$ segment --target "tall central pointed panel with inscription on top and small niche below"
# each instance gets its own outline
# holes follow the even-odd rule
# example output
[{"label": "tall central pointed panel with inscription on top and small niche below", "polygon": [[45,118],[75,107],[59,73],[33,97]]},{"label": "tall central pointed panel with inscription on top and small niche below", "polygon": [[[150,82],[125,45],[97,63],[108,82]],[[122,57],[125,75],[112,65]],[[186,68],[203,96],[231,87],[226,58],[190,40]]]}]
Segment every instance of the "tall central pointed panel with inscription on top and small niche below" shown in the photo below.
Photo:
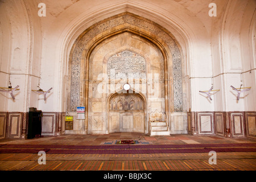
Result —
[{"label": "tall central pointed panel with inscription on top and small niche below", "polygon": [[[131,47],[137,47],[143,40],[134,41],[131,34],[121,35],[121,40],[125,40]],[[117,40],[117,39],[115,39]],[[145,43],[144,43],[145,44]],[[150,48],[148,48],[150,51]],[[152,51],[153,52],[153,51]],[[160,57],[160,56],[159,56]],[[150,56],[148,56],[149,60]],[[162,59],[163,60],[163,59]],[[159,61],[160,62],[160,59]],[[149,63],[150,64],[150,63]],[[110,56],[107,61],[107,80],[110,81],[109,88],[114,86],[114,93],[107,98],[108,104],[108,131],[114,132],[138,132],[147,133],[146,125],[146,99],[147,93],[142,88],[146,88],[146,59],[137,52],[125,49]],[[150,69],[150,67],[149,67]],[[160,71],[160,70],[159,70]],[[119,89],[118,84],[129,83],[131,89]],[[112,85],[111,85],[112,84]],[[135,90],[137,88],[137,90]],[[119,89],[119,90],[118,90]],[[161,109],[161,108],[160,108]],[[145,130],[146,129],[146,130]]]}]

